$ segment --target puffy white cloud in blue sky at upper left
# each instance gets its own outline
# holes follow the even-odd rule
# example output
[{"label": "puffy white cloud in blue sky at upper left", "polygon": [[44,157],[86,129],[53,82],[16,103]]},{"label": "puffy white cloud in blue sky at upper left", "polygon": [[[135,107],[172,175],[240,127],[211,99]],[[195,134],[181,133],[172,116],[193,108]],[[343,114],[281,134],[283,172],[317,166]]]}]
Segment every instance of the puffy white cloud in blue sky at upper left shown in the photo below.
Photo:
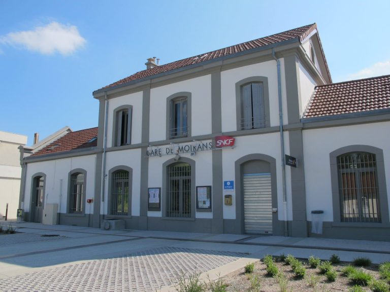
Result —
[{"label": "puffy white cloud in blue sky at upper left", "polygon": [[46,26],[35,27],[34,30],[10,32],[0,36],[0,43],[11,46],[22,46],[29,51],[50,55],[58,52],[62,55],[73,54],[86,44],[74,25],[51,22]]}]

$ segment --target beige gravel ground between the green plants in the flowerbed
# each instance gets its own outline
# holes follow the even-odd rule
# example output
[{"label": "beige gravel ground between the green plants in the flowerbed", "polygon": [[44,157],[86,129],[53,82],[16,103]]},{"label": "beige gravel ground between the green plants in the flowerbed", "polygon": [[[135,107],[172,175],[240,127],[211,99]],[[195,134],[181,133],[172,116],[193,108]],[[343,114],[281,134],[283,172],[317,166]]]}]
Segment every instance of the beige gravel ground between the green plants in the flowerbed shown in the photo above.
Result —
[{"label": "beige gravel ground between the green plants in the flowerbed", "polygon": [[[341,276],[341,269],[348,265],[343,263],[340,265],[334,265],[337,271],[337,279],[335,282],[329,282],[324,275],[319,274],[318,269],[312,269],[308,264],[305,265],[306,276],[304,279],[296,279],[294,272],[290,266],[283,263],[275,263],[279,271],[283,271],[288,279],[287,292],[299,291],[299,292],[332,292],[332,291],[345,291],[353,286],[347,277]],[[358,268],[360,269],[360,268]],[[374,275],[375,279],[379,279],[377,267],[362,268],[365,272]],[[250,275],[257,276],[259,285],[253,285],[257,287],[251,288]],[[253,276],[252,276],[253,277]],[[310,285],[310,280],[312,285]],[[280,287],[278,280],[267,276],[266,265],[261,261],[255,263],[253,274],[245,274],[244,269],[237,270],[222,278],[222,281],[228,284],[227,291],[256,291],[256,292],[279,292]],[[314,283],[314,285],[313,285]],[[365,291],[371,291],[368,287],[363,287]]]}]

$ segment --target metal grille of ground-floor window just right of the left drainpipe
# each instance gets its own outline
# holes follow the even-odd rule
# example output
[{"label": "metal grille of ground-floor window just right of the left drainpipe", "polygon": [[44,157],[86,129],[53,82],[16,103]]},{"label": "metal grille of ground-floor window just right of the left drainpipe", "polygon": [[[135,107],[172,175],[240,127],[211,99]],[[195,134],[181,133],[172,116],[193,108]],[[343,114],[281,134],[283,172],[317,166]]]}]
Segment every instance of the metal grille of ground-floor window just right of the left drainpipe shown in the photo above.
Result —
[{"label": "metal grille of ground-floor window just right of the left drainpipe", "polygon": [[119,170],[112,177],[111,214],[128,215],[128,171]]}]

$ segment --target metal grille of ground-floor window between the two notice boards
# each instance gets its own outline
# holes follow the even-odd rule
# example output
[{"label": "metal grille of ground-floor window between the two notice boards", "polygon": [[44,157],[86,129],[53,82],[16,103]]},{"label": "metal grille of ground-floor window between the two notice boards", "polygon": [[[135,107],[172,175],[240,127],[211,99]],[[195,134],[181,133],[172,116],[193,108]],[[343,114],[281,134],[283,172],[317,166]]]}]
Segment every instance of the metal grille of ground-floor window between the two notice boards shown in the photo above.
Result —
[{"label": "metal grille of ground-floor window between the two notice boards", "polygon": [[167,217],[191,217],[191,166],[168,167]]}]

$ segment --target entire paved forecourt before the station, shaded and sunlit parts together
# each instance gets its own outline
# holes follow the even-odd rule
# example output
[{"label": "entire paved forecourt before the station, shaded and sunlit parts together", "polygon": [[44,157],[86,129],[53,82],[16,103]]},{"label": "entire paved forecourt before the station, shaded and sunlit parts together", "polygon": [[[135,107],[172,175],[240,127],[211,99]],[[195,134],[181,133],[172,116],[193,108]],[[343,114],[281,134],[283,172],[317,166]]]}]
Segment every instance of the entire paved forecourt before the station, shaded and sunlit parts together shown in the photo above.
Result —
[{"label": "entire paved forecourt before the station, shaded and sunlit parts together", "polygon": [[12,224],[19,233],[0,235],[7,292],[171,291],[183,273],[215,279],[265,254],[390,261],[390,242]]}]

